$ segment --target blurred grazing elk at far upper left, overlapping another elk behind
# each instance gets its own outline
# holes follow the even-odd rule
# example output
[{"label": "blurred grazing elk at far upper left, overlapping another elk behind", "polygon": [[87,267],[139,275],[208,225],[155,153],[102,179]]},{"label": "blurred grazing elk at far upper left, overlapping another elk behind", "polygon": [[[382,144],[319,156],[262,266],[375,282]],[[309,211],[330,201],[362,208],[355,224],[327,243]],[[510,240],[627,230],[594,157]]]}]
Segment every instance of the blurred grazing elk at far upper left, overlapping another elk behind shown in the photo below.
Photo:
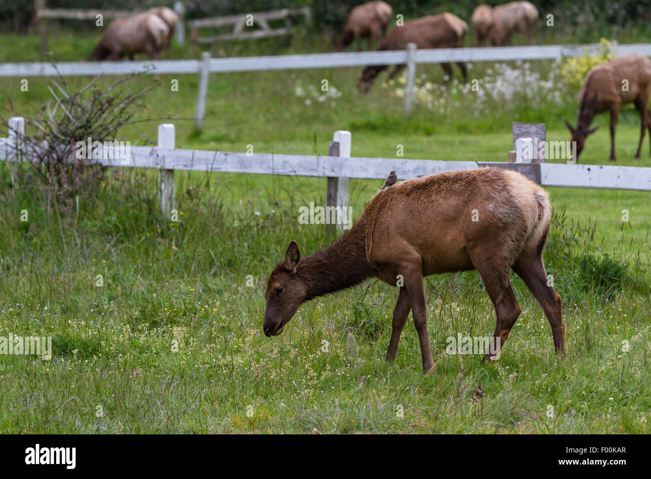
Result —
[{"label": "blurred grazing elk at far upper left, overlapping another elk behind", "polygon": [[117,18],[106,27],[100,42],[90,54],[91,61],[133,60],[136,53],[158,59],[169,36],[169,27],[158,15],[143,12],[128,18]]}]

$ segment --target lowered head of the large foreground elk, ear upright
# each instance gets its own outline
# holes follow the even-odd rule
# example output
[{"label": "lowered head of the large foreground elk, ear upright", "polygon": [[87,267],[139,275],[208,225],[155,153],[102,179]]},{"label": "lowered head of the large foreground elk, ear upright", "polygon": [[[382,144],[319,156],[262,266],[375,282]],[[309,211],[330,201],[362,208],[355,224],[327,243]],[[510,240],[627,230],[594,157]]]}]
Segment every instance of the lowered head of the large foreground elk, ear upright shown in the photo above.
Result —
[{"label": "lowered head of the large foreground elk, ear upright", "polygon": [[298,278],[296,268],[301,261],[296,241],[290,242],[285,260],[278,263],[271,272],[264,297],[267,308],[264,312],[262,330],[265,336],[277,336],[284,325],[294,316],[307,298],[305,284]]}]

